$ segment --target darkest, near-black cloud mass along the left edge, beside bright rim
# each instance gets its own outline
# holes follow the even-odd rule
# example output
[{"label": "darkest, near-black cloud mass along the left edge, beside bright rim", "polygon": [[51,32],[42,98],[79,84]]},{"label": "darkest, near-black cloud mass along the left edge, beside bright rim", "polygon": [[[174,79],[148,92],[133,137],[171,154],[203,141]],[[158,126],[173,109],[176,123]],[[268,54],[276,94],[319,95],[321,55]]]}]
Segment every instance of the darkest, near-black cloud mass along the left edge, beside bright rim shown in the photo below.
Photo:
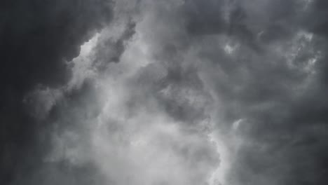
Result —
[{"label": "darkest, near-black cloud mass along the left edge, beside bright rim", "polygon": [[1,184],[18,170],[32,170],[43,155],[35,139],[43,126],[27,114],[23,97],[39,83],[67,81],[65,62],[111,20],[111,6],[111,1],[1,1]]}]

